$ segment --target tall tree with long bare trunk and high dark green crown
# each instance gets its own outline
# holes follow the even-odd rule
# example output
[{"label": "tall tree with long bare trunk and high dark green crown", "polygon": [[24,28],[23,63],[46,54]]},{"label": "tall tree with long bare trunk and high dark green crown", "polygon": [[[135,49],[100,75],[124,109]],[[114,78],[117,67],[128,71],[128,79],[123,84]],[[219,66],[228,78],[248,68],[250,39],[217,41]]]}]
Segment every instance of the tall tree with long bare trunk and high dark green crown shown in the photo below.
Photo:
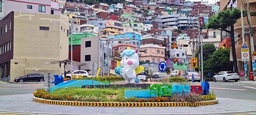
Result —
[{"label": "tall tree with long bare trunk and high dark green crown", "polygon": [[[225,32],[230,34],[231,37],[231,46],[232,46],[232,57],[235,72],[238,73],[238,61],[236,59],[235,52],[235,38],[234,38],[234,24],[240,18],[240,10],[232,9],[232,10],[224,10],[220,11],[217,14],[214,14],[212,17],[208,19],[208,24],[206,24],[207,29],[218,29],[224,30]],[[230,30],[228,30],[230,27]]]}]

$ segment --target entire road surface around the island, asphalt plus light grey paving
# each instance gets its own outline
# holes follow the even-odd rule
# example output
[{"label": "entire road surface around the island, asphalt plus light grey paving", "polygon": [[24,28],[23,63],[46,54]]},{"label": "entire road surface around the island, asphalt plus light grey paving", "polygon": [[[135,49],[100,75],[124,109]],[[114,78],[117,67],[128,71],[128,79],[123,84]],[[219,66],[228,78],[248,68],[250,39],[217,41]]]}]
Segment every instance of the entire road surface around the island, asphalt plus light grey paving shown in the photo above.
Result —
[{"label": "entire road surface around the island, asphalt plus light grey paving", "polygon": [[32,101],[32,93],[46,88],[42,83],[0,82],[0,114],[256,114],[256,82],[209,83],[217,105],[113,108],[40,104]]}]

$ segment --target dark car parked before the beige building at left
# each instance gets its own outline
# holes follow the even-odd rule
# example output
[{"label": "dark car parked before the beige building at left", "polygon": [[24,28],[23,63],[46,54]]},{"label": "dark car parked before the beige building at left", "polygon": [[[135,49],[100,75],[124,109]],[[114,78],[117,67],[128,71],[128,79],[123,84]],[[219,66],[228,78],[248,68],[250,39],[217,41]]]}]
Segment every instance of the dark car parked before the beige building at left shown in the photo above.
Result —
[{"label": "dark car parked before the beige building at left", "polygon": [[24,76],[18,76],[14,79],[14,82],[44,82],[43,74],[30,73]]}]

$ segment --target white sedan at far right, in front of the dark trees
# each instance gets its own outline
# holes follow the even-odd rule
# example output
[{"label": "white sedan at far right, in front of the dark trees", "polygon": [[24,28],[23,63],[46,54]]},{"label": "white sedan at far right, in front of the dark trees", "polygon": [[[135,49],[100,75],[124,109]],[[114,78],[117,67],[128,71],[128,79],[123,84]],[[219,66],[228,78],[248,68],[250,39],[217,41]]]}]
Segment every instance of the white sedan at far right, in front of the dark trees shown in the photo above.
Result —
[{"label": "white sedan at far right, in front of the dark trees", "polygon": [[235,71],[220,71],[220,72],[218,72],[218,74],[213,76],[213,81],[214,82],[217,82],[217,81],[223,81],[223,82],[235,81],[235,82],[238,82],[239,80],[240,80],[239,75]]}]

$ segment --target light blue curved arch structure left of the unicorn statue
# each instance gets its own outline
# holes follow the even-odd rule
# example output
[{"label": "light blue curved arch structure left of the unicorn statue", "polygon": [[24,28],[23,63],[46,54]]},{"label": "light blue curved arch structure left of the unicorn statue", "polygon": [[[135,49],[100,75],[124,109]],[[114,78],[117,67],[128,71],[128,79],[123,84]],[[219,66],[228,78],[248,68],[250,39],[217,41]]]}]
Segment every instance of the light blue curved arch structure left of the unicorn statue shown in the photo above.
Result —
[{"label": "light blue curved arch structure left of the unicorn statue", "polygon": [[[92,85],[92,79],[84,79],[79,81],[66,81],[61,82],[58,85],[50,88],[50,92],[57,90],[57,89],[65,89],[66,87],[82,87],[83,85]],[[93,85],[108,85],[103,82],[93,81]]]}]

